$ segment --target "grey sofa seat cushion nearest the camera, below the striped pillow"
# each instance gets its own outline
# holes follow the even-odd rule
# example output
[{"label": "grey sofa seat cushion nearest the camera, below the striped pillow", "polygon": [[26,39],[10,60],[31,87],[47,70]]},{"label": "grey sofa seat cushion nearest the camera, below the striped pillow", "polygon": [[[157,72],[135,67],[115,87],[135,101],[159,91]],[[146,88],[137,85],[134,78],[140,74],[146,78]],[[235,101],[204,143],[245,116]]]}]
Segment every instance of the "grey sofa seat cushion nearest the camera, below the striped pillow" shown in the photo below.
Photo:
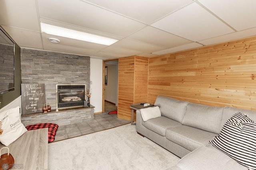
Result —
[{"label": "grey sofa seat cushion nearest the camera, below the striped pillow", "polygon": [[[182,170],[248,170],[218,149],[202,146],[177,163]],[[177,168],[168,168],[176,170]]]}]

